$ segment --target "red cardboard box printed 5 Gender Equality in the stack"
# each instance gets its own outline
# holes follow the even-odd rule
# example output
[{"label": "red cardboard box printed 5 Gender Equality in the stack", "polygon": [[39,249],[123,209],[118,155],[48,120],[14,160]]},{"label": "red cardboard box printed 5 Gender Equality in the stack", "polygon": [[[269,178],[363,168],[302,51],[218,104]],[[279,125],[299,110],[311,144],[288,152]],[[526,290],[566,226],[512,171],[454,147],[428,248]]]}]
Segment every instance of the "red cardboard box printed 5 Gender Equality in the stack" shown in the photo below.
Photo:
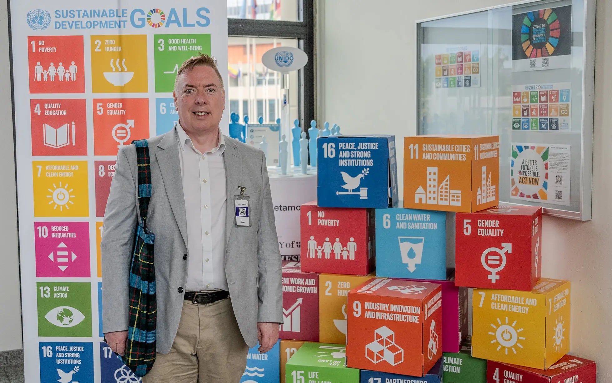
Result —
[{"label": "red cardboard box printed 5 Gender Equality in the stack", "polygon": [[496,206],[457,213],[455,284],[531,291],[542,273],[542,208]]}]

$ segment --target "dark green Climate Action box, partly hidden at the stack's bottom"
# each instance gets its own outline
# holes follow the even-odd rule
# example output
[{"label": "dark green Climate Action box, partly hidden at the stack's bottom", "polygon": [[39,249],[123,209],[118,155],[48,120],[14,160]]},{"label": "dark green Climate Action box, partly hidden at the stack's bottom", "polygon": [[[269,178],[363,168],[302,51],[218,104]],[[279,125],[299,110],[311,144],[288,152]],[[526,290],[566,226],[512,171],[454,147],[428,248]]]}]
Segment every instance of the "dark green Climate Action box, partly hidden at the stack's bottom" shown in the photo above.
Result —
[{"label": "dark green Climate Action box, partly hidden at the stack's bottom", "polygon": [[487,383],[487,360],[471,356],[471,340],[468,338],[459,352],[442,353],[442,382]]}]

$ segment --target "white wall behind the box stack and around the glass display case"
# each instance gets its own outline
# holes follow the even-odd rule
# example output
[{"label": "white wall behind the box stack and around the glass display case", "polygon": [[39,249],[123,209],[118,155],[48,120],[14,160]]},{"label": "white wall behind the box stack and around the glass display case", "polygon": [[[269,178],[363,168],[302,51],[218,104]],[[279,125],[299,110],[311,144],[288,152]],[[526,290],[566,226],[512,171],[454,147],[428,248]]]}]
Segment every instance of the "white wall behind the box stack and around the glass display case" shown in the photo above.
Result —
[{"label": "white wall behind the box stack and around the glass display case", "polygon": [[[416,134],[416,20],[504,0],[318,0],[318,121],[344,134]],[[572,281],[572,354],[612,382],[612,0],[597,1],[592,221],[543,219],[543,276]],[[398,178],[403,174],[398,161]]]}]

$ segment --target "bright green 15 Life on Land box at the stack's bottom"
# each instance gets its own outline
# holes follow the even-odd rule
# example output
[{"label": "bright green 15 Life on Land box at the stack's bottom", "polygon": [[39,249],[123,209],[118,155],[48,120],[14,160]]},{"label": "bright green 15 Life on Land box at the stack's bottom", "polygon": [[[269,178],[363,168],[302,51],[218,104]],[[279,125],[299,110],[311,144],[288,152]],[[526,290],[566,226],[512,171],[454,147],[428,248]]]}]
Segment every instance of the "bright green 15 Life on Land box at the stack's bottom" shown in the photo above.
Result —
[{"label": "bright green 15 Life on Land box at the stack's bottom", "polygon": [[359,370],[346,367],[345,346],[307,342],[285,365],[285,382],[359,383]]}]

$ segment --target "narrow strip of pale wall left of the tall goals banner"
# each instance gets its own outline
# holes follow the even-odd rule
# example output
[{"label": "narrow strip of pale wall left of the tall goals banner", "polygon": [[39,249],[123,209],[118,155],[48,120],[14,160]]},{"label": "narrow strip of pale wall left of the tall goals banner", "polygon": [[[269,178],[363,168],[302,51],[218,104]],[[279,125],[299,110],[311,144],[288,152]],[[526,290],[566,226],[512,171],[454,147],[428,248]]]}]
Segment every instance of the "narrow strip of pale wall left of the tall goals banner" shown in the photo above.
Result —
[{"label": "narrow strip of pale wall left of the tall goals banner", "polygon": [[7,2],[0,1],[0,351],[22,347],[8,17]]}]

